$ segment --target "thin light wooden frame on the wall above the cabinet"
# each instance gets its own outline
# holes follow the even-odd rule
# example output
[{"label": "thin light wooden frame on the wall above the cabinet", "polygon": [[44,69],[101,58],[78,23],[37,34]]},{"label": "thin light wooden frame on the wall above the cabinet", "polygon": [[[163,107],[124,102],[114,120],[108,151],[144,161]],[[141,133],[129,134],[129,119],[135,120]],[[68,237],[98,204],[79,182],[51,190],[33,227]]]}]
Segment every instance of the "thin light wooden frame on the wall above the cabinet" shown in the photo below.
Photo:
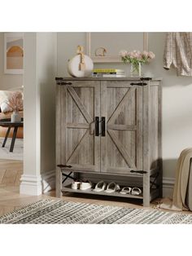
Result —
[{"label": "thin light wooden frame on the wall above the cabinet", "polygon": [[119,53],[148,51],[148,33],[141,32],[93,32],[86,33],[86,53],[94,63],[122,62]]}]

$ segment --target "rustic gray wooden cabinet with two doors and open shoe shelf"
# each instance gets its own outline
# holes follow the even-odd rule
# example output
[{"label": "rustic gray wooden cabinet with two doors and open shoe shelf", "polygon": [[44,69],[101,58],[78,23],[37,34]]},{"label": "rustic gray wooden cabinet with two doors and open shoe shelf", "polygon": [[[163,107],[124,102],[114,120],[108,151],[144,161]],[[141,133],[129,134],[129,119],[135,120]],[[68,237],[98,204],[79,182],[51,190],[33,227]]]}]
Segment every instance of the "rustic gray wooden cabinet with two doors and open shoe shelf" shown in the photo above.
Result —
[{"label": "rustic gray wooden cabinet with two doors and open shoe shelf", "polygon": [[[161,196],[160,79],[56,77],[56,82],[56,196],[133,197],[145,206]],[[93,183],[116,181],[142,194],[72,190],[62,173]]]}]

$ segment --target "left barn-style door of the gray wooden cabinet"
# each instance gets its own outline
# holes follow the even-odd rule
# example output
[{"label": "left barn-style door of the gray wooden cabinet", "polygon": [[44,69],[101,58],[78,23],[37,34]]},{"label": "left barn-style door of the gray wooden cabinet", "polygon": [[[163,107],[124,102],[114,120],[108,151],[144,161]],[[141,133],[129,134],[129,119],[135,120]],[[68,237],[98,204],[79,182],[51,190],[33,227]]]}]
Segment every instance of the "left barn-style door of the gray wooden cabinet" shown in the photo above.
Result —
[{"label": "left barn-style door of the gray wooden cabinet", "polygon": [[[71,84],[70,84],[71,83]],[[72,81],[61,90],[61,159],[68,170],[100,171],[100,82]]]}]

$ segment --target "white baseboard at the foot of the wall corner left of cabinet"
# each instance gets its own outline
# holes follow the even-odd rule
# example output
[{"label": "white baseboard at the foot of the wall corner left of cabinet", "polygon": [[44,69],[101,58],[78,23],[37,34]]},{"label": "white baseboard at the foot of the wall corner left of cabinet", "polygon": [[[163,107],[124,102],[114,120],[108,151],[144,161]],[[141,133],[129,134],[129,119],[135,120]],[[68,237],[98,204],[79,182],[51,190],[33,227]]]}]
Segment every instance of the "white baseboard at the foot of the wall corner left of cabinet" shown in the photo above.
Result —
[{"label": "white baseboard at the foot of the wall corner left of cabinet", "polygon": [[41,175],[23,174],[20,179],[20,194],[39,196],[42,193]]}]

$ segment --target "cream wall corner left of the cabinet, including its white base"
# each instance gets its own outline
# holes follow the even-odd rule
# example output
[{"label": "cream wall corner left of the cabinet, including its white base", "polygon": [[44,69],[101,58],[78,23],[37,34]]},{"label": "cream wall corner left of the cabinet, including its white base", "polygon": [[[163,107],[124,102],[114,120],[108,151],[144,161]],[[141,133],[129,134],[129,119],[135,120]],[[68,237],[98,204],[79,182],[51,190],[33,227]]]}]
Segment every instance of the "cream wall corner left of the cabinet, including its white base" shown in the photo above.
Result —
[{"label": "cream wall corner left of the cabinet, including its white base", "polygon": [[55,46],[55,33],[24,33],[24,194],[41,194],[55,170]]}]

